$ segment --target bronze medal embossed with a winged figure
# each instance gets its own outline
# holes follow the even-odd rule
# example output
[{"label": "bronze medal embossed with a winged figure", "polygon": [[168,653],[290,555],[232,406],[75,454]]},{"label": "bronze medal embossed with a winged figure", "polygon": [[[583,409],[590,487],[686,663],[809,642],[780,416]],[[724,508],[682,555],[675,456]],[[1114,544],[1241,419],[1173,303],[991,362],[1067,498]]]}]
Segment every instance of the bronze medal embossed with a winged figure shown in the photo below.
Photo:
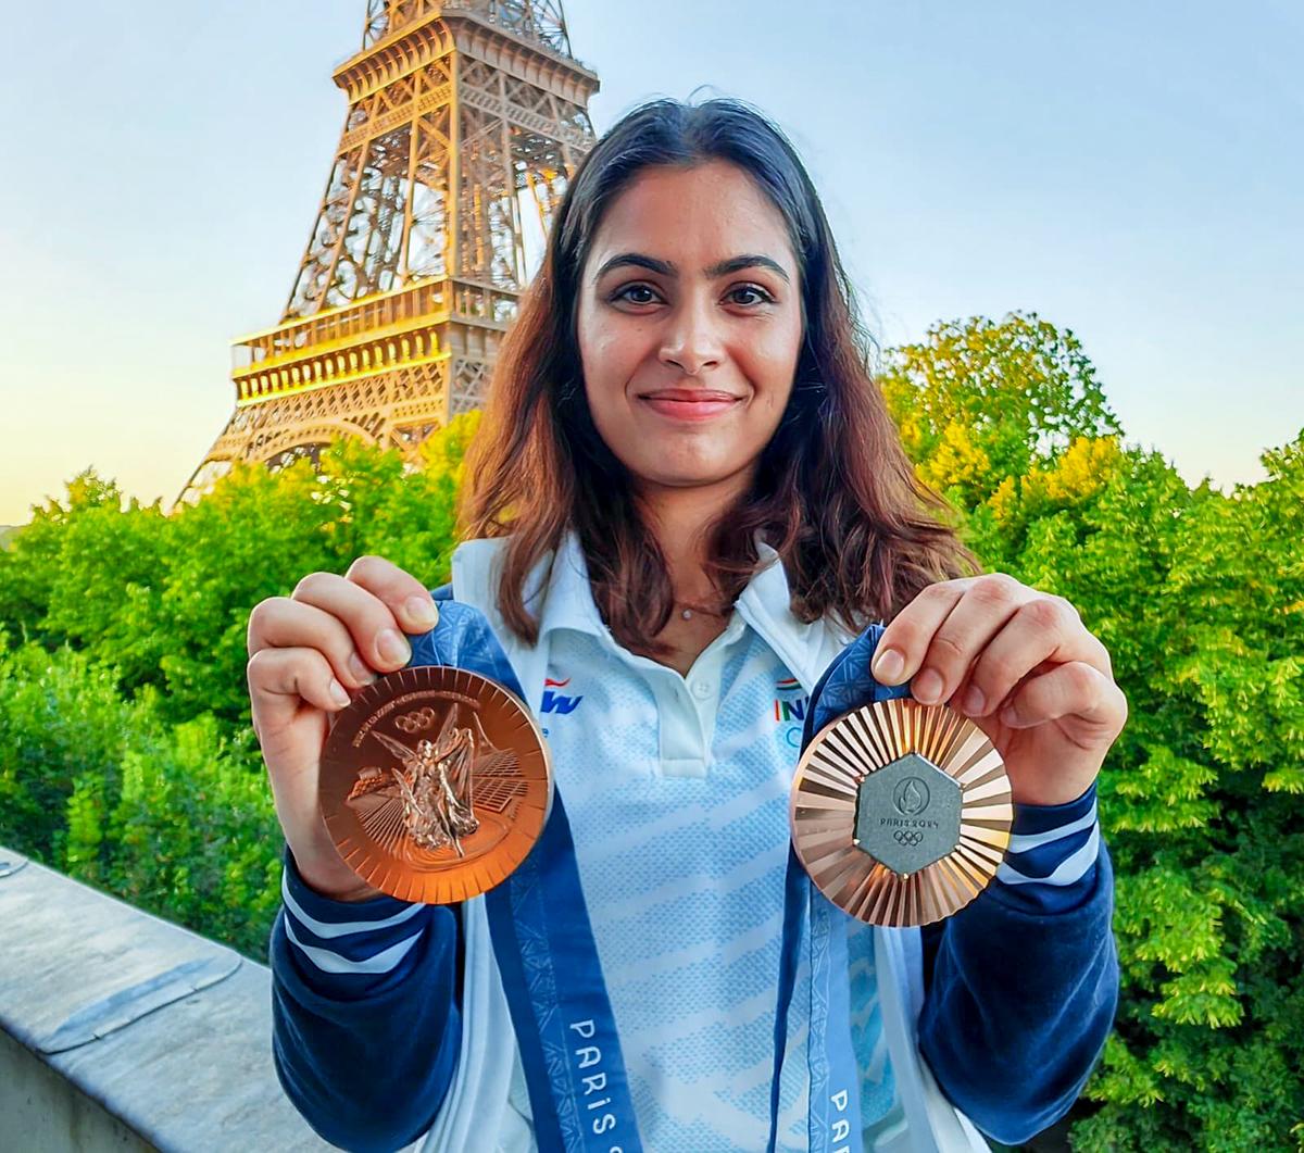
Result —
[{"label": "bronze medal embossed with a winged figure", "polygon": [[452,904],[505,880],[553,801],[544,734],[520,698],[449,665],[381,677],[335,713],[321,805],[344,863],[406,901]]}]

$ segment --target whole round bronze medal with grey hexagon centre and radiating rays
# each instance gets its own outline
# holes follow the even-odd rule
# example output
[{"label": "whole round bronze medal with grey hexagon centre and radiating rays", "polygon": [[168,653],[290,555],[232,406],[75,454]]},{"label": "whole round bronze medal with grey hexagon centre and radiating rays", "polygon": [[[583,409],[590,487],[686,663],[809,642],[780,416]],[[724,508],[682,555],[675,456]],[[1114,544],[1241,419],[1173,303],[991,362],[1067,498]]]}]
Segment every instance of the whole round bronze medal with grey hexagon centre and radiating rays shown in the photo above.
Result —
[{"label": "whole round bronze medal with grey hexagon centre and radiating rays", "polygon": [[928,925],[996,875],[1013,822],[1000,754],[943,704],[880,700],[825,725],[797,764],[793,845],[816,888],[870,925]]}]

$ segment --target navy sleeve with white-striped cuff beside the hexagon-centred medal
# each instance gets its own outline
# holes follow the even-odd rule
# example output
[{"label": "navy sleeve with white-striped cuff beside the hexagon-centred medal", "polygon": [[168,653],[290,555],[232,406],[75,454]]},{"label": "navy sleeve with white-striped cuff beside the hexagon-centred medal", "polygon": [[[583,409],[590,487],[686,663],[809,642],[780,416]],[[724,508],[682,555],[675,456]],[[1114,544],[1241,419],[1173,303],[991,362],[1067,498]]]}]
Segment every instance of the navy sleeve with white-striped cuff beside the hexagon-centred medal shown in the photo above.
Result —
[{"label": "navy sleeve with white-striped cuff beside the hexagon-centred medal", "polygon": [[919,1050],[979,1130],[1029,1140],[1077,1100],[1114,1024],[1114,873],[1095,786],[1016,806],[998,878],[925,930]]}]

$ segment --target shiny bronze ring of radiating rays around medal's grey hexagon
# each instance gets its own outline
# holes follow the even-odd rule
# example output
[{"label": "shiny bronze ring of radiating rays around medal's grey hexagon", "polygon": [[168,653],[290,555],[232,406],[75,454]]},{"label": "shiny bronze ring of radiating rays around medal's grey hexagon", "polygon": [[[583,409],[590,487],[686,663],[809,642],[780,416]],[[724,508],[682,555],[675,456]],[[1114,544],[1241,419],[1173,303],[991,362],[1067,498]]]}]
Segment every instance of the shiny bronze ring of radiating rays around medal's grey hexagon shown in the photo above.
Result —
[{"label": "shiny bronze ring of radiating rays around medal's grey hexagon", "polygon": [[[863,686],[863,677],[849,677],[838,687],[857,681]],[[947,856],[902,875],[853,836],[861,783],[908,753],[958,783],[961,819]],[[853,917],[893,927],[940,921],[978,896],[1004,858],[1013,820],[1009,780],[986,734],[953,710],[901,698],[861,706],[820,730],[798,766],[792,811],[798,856],[819,890]]]}]

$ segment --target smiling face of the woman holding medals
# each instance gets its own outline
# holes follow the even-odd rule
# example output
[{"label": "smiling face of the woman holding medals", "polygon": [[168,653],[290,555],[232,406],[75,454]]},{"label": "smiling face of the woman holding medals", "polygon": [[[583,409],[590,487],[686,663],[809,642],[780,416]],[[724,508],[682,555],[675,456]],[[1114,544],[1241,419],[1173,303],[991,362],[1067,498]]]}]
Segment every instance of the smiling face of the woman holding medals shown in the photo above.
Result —
[{"label": "smiling face of the woman holding medals", "polygon": [[792,393],[802,307],[784,218],[742,168],[634,177],[593,237],[576,323],[593,424],[640,493],[747,488]]}]

